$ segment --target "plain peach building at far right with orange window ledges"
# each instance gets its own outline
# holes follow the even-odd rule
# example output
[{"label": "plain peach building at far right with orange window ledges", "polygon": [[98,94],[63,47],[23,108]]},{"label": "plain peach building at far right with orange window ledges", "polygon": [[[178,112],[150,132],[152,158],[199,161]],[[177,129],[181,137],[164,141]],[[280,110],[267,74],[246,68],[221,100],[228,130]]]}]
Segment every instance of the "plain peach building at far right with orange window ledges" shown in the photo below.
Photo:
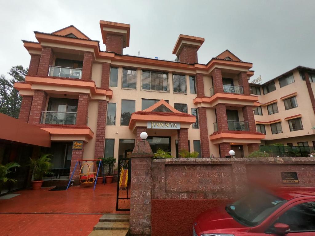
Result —
[{"label": "plain peach building at far right with orange window ledges", "polygon": [[315,146],[315,69],[298,66],[261,85],[250,84],[259,97],[255,108],[261,144]]}]

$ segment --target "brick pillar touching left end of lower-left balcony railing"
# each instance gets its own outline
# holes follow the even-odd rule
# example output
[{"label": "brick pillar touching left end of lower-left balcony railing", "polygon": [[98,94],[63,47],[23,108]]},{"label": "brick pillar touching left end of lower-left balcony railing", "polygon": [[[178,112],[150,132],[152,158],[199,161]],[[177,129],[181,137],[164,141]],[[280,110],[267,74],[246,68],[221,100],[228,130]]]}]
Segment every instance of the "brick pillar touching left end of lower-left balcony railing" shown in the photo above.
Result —
[{"label": "brick pillar touching left end of lower-left balcony railing", "polygon": [[45,91],[35,90],[32,100],[32,106],[28,123],[39,124],[42,111],[46,110],[47,93]]}]

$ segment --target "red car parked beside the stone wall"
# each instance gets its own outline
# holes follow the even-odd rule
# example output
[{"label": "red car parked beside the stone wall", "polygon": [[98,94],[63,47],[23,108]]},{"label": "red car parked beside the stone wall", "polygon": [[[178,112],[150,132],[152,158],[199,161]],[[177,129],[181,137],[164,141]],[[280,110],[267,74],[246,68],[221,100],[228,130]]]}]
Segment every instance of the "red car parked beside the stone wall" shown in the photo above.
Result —
[{"label": "red car parked beside the stone wall", "polygon": [[240,200],[201,213],[193,236],[315,236],[315,188],[252,190]]}]

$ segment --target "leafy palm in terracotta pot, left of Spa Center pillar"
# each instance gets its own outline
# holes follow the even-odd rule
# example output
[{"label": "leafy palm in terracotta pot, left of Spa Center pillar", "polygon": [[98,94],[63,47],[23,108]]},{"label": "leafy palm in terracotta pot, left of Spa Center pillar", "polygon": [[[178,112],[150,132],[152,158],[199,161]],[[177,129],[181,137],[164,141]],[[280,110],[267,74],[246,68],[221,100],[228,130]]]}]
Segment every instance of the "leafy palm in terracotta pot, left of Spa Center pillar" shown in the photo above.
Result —
[{"label": "leafy palm in terracotta pot, left of Spa Center pillar", "polygon": [[51,154],[42,154],[37,159],[31,159],[30,167],[33,171],[34,180],[32,181],[33,190],[38,190],[42,187],[43,178],[46,174],[51,174],[49,171],[51,167],[50,158],[48,156],[52,156]]}]

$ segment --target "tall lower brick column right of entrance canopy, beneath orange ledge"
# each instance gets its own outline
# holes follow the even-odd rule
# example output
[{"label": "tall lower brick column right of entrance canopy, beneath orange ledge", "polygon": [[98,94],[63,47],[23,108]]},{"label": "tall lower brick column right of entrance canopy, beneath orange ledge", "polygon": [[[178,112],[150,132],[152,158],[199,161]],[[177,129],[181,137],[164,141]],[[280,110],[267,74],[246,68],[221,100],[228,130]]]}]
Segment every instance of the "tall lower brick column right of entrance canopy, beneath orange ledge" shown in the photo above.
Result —
[{"label": "tall lower brick column right of entrance canopy, beneath orange ledge", "polygon": [[209,135],[208,135],[208,123],[207,113],[205,107],[198,108],[198,121],[199,121],[199,132],[200,132],[200,145],[201,145],[201,157],[209,158]]}]

